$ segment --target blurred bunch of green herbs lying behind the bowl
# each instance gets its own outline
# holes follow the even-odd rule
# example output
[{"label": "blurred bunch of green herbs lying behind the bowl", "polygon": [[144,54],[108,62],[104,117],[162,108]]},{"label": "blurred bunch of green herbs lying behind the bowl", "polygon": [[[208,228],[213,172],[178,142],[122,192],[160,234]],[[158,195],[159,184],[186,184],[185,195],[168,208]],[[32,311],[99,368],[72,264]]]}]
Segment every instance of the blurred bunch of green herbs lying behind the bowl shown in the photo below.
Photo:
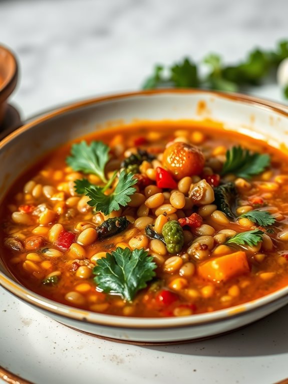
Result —
[{"label": "blurred bunch of green herbs lying behind the bowl", "polygon": [[[206,56],[199,64],[185,58],[168,68],[157,65],[144,82],[143,89],[176,87],[238,92],[247,86],[260,85],[269,76],[275,78],[278,65],[286,58],[288,40],[279,42],[275,51],[257,48],[236,65],[224,65],[221,57],[216,54]],[[206,76],[199,74],[201,65],[210,69]],[[288,85],[283,93],[288,98]]]}]

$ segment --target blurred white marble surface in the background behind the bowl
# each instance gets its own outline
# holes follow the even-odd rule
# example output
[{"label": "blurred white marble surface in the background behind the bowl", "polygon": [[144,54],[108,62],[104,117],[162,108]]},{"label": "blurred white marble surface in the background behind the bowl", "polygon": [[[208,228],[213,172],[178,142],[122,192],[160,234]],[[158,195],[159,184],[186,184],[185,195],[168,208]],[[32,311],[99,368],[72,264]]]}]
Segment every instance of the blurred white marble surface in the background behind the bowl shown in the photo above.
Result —
[{"label": "blurred white marble surface in the background behind the bowl", "polygon": [[[137,90],[157,63],[210,52],[235,62],[287,37],[286,0],[0,1],[0,43],[20,63],[24,117],[69,101]],[[266,85],[251,92],[282,100]]]}]

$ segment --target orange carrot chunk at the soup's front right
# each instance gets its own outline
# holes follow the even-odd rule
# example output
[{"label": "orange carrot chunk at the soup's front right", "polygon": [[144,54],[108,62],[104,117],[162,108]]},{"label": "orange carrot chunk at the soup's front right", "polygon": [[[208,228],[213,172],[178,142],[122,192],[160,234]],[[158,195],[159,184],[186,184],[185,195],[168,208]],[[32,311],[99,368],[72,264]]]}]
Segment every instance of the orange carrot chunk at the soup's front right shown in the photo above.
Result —
[{"label": "orange carrot chunk at the soup's front right", "polygon": [[213,258],[198,266],[198,274],[203,279],[217,282],[225,281],[247,272],[249,272],[249,265],[246,254],[243,251]]}]

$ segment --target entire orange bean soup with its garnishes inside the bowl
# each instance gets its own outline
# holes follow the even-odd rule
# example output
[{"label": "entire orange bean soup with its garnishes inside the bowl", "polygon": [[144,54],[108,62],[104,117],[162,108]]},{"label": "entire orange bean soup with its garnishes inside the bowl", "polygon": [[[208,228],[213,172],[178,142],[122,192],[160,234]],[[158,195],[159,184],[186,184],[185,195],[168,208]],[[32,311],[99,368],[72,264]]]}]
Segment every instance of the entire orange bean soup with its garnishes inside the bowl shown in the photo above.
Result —
[{"label": "entire orange bean soup with its garnishes inside the bowl", "polygon": [[288,284],[288,165],[246,136],[182,123],[98,131],[24,174],[2,204],[1,256],[50,299],[185,316]]}]

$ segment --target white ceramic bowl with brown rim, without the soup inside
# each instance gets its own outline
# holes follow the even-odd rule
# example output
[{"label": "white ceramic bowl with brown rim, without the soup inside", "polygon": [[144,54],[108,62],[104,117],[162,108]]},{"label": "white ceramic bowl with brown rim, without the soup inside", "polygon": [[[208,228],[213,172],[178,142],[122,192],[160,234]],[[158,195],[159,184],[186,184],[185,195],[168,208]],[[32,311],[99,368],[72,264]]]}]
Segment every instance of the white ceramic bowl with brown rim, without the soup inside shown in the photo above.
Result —
[{"label": "white ceramic bowl with brown rim, without the soup inside", "polygon": [[[223,128],[288,151],[288,113],[240,95],[163,90],[103,97],[56,110],[18,129],[0,143],[0,199],[12,182],[44,153],[95,131],[135,120],[212,119]],[[224,131],[223,131],[224,132]],[[223,133],[225,134],[225,133]],[[103,337],[134,342],[175,342],[241,327],[288,303],[288,287],[251,302],[211,313],[173,318],[134,318],[94,313],[46,299],[23,287],[0,260],[0,284],[63,324]]]}]

